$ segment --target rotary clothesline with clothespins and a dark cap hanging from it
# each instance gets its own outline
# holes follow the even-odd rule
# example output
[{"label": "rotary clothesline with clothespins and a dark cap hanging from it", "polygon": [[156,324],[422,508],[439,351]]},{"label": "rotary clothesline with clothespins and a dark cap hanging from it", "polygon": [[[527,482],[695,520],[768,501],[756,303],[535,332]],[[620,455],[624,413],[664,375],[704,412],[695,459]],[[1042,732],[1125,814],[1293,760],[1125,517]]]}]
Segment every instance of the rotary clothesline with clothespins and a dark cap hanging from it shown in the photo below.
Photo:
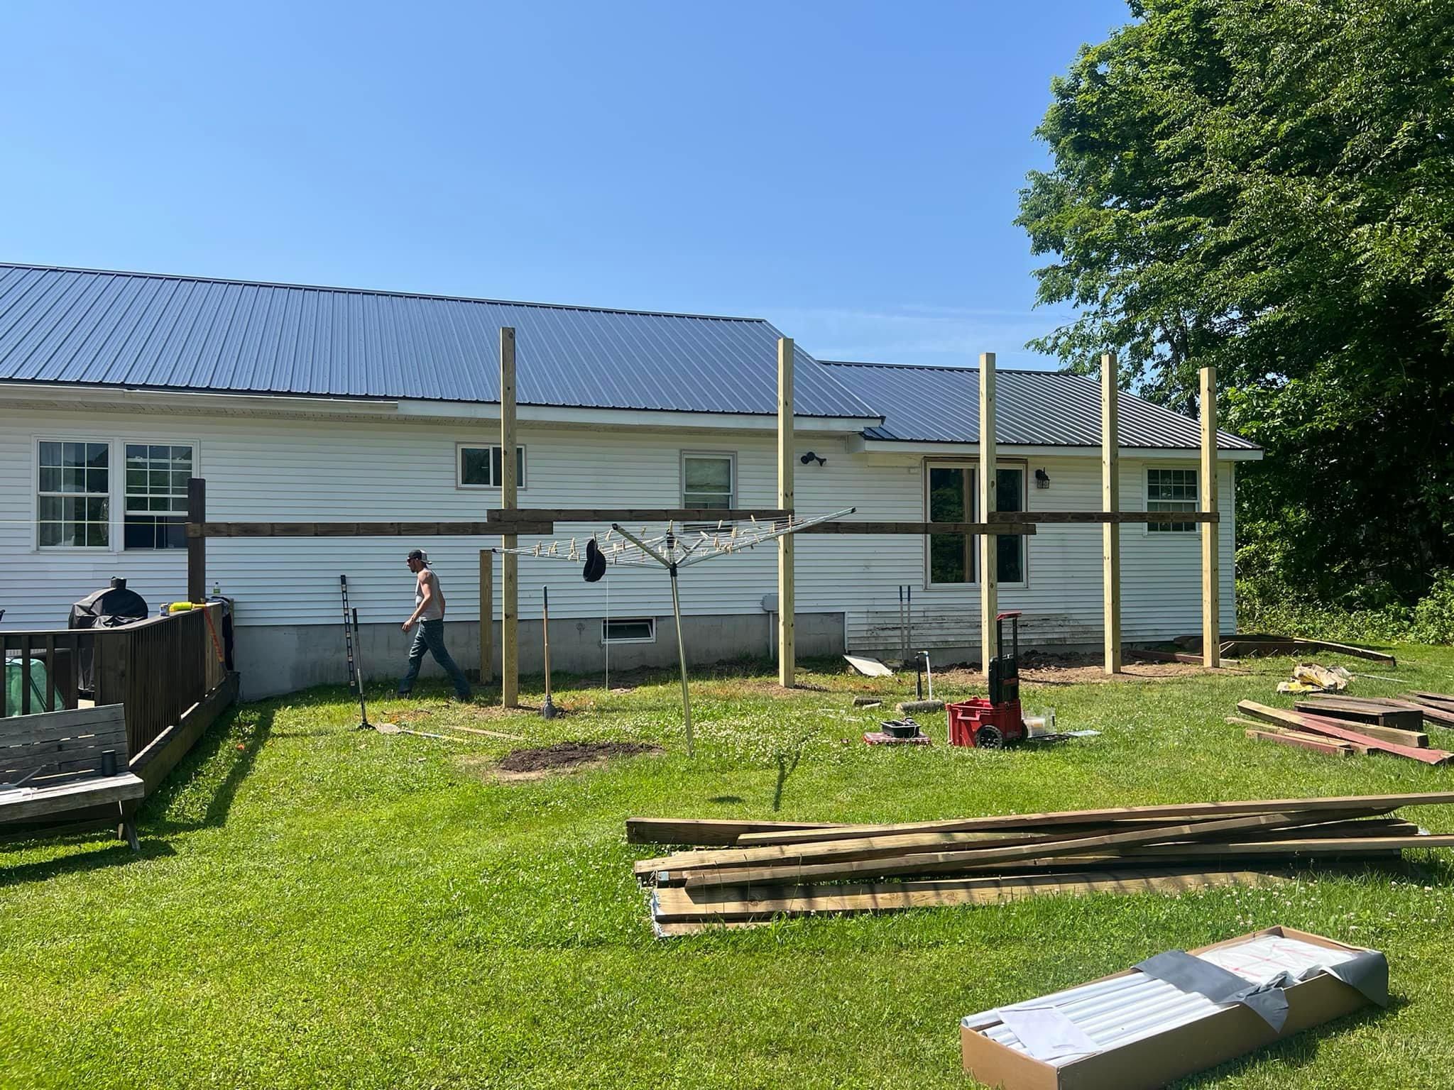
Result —
[{"label": "rotary clothesline with clothespins and a dark cap hanging from it", "polygon": [[[605,573],[606,567],[614,564],[632,567],[659,564],[667,570],[672,577],[672,615],[676,619],[676,654],[682,670],[682,722],[686,728],[686,756],[691,757],[695,751],[692,746],[692,696],[691,690],[686,687],[686,647],[682,642],[682,600],[676,592],[678,568],[701,564],[704,560],[711,560],[714,557],[727,557],[734,552],[743,552],[744,549],[755,548],[756,545],[765,545],[769,541],[776,541],[778,538],[785,538],[790,533],[797,533],[808,526],[817,526],[820,522],[842,519],[845,514],[852,514],[855,510],[855,507],[845,507],[843,510],[833,512],[832,514],[814,514],[807,519],[792,517],[771,523],[752,519],[746,526],[727,526],[726,523],[718,523],[714,530],[678,530],[672,526],[672,523],[667,523],[666,532],[657,536],[647,536],[644,526],[641,528],[641,533],[635,535],[619,523],[612,523],[611,530],[605,535],[606,548],[602,548],[601,542],[596,541],[596,536],[592,535],[586,539],[585,549],[577,545],[576,538],[571,538],[569,545],[566,545],[566,542],[554,541],[548,545],[541,544],[513,549],[496,548],[493,551],[513,554],[516,557],[576,561],[577,564],[585,561],[586,568],[583,574],[587,583],[595,583],[601,578],[602,573]],[[614,533],[619,535],[618,541],[612,541]],[[563,545],[566,546],[564,551],[561,548]]]}]

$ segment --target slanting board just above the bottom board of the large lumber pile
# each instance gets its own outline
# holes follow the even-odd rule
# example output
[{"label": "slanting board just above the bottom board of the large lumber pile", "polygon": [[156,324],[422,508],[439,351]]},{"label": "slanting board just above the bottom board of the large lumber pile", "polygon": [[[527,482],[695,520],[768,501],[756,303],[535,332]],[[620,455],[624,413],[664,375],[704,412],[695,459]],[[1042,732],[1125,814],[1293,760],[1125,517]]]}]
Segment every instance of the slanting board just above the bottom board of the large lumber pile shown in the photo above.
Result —
[{"label": "slanting board just above the bottom board of the large lumber pile", "polygon": [[[1281,825],[1306,821],[1301,814],[1252,814],[1246,817],[1229,818],[1226,821],[1197,821],[1182,825],[1168,825],[1159,828],[1143,828],[1130,833],[1111,833],[1106,836],[1070,837],[1037,844],[1013,844],[1009,847],[986,847],[971,850],[947,850],[922,855],[910,855],[890,859],[861,859],[849,862],[827,863],[794,863],[794,872],[801,878],[814,881],[851,881],[853,878],[891,876],[897,873],[932,873],[920,868],[935,868],[942,865],[992,865],[1013,863],[1024,859],[1048,859],[1054,856],[1080,855],[1112,849],[1117,853],[1131,844],[1152,844],[1162,840],[1188,840],[1221,836],[1224,833],[1246,833],[1255,828],[1278,828]],[[696,868],[683,871],[680,878],[688,887],[701,885],[731,885],[736,882],[779,881],[781,869],[771,866],[742,866],[742,868]],[[670,875],[666,881],[672,881]]]}]

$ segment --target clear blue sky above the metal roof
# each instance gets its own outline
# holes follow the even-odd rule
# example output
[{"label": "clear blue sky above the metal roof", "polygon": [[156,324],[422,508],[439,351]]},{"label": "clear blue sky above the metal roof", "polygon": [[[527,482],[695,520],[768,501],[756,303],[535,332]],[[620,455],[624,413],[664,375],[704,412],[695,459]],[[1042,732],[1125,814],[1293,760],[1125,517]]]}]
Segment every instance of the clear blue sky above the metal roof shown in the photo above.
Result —
[{"label": "clear blue sky above the metal roof", "polygon": [[1012,224],[1124,0],[0,13],[0,259],[772,320],[1051,366]]}]

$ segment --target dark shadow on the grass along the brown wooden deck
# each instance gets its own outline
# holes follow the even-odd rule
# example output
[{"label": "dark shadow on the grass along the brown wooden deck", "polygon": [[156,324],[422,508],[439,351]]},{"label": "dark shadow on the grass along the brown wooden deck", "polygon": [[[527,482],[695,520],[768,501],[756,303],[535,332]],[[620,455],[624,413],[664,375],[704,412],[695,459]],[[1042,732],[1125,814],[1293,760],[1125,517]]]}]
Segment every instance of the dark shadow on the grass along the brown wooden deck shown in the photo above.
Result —
[{"label": "dark shadow on the grass along the brown wooden deck", "polygon": [[[192,751],[173,769],[161,788],[142,807],[138,831],[145,833],[190,833],[198,828],[217,828],[227,821],[238,788],[257,763],[257,754],[272,735],[275,709],[265,705],[257,709],[257,719],[246,741],[234,738],[234,727],[240,708],[233,708],[221,716],[206,734],[192,747]],[[241,747],[240,750],[237,747]],[[177,810],[196,811],[195,802],[186,805],[188,796],[205,794],[206,804],[196,820],[177,820],[166,814]]]}]

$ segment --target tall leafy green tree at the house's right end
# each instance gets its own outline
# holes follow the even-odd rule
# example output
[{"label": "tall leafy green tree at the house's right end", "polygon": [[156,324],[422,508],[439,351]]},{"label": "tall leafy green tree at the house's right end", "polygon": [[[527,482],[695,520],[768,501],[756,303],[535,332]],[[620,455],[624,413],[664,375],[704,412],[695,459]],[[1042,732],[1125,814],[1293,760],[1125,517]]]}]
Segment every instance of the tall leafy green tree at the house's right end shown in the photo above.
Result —
[{"label": "tall leafy green tree at the house's right end", "polygon": [[1217,368],[1239,574],[1378,605],[1454,567],[1454,3],[1141,0],[1053,83],[1032,347],[1182,411]]}]

